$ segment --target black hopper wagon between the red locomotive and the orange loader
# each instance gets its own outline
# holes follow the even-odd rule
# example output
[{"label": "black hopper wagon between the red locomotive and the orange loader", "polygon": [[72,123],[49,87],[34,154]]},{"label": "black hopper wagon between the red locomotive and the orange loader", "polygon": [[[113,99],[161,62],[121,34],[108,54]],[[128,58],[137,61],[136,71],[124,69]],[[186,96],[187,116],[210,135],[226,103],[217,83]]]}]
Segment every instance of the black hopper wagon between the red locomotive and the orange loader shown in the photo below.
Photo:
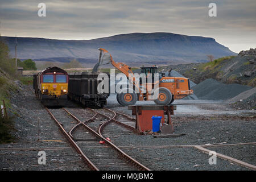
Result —
[{"label": "black hopper wagon between the red locomotive and the orange loader", "polygon": [[[69,73],[68,99],[79,102],[85,107],[106,105],[110,90],[109,73],[104,73],[105,79],[98,77],[99,74],[99,72]],[[104,86],[108,87],[107,92],[98,90],[98,88],[105,90]]]}]

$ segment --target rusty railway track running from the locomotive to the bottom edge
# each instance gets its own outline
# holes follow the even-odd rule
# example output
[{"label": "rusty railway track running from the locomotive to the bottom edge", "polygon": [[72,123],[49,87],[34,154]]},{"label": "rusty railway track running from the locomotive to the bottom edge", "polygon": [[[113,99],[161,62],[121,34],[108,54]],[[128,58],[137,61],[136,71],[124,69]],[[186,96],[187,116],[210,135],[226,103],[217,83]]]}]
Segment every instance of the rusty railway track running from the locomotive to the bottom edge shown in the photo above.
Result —
[{"label": "rusty railway track running from the locomotive to the bottom edge", "polygon": [[[120,148],[115,146],[108,139],[102,137],[102,134],[97,132],[97,125],[104,118],[105,121],[100,123],[102,126],[104,123],[112,121],[115,117],[102,117],[102,114],[94,111],[92,117],[82,122],[75,115],[69,112],[67,109],[48,109],[46,110],[51,115],[53,120],[60,127],[65,137],[69,140],[72,146],[79,152],[86,165],[92,170],[146,170],[149,171],[146,166],[143,166],[137,160],[131,158]],[[92,111],[92,110],[91,110]],[[96,120],[97,117],[101,119]],[[77,122],[74,125],[74,121]],[[92,122],[96,121],[96,123]],[[90,127],[85,123],[90,123]],[[92,125],[93,124],[93,125]],[[98,131],[101,131],[101,127],[98,127]],[[101,146],[104,143],[105,148],[85,146]],[[81,147],[83,147],[81,149]],[[85,155],[86,154],[86,155]]]}]

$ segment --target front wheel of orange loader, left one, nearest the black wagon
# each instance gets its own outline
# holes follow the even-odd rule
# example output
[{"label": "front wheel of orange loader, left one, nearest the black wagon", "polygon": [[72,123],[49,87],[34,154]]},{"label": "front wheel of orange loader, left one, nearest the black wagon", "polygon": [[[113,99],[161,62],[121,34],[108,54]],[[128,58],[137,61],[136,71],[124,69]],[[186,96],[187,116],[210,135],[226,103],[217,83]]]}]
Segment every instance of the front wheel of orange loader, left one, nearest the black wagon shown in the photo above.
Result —
[{"label": "front wheel of orange loader, left one, nearest the black wagon", "polygon": [[136,93],[118,93],[117,102],[122,106],[134,105],[137,102]]}]

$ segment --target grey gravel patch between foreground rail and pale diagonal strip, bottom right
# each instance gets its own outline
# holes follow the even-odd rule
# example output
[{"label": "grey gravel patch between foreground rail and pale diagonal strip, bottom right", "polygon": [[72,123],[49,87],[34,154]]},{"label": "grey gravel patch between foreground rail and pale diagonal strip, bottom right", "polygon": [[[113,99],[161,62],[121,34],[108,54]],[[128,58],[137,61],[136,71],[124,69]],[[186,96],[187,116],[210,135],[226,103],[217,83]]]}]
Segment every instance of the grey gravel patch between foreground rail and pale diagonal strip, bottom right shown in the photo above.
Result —
[{"label": "grey gravel patch between foreground rail and pale diagonal strip, bottom right", "polygon": [[217,158],[210,165],[209,156],[196,148],[122,148],[152,170],[247,170]]}]

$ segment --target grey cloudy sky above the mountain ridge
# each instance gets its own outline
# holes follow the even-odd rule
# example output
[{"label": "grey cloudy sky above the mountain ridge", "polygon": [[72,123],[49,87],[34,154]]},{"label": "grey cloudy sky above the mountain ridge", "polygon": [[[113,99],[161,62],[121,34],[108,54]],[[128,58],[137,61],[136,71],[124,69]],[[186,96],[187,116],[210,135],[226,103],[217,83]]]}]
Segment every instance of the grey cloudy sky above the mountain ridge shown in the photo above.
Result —
[{"label": "grey cloudy sky above the mountain ridge", "polygon": [[[46,17],[38,16],[39,3]],[[240,52],[256,47],[256,1],[0,0],[1,36],[84,40],[133,32],[211,37]]]}]

